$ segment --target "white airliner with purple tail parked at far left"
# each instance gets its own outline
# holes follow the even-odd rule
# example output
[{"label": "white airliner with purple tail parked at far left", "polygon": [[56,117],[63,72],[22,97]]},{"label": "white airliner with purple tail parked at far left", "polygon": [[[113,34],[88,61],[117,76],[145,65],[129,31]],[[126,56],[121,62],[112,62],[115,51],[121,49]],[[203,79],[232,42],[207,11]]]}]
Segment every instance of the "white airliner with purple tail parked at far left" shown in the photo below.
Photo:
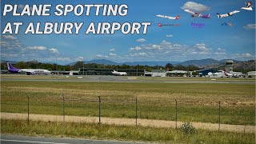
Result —
[{"label": "white airliner with purple tail parked at far left", "polygon": [[11,73],[26,73],[27,75],[30,74],[50,74],[49,70],[43,70],[43,69],[17,69],[14,66],[12,66],[9,62],[6,62],[8,70]]}]

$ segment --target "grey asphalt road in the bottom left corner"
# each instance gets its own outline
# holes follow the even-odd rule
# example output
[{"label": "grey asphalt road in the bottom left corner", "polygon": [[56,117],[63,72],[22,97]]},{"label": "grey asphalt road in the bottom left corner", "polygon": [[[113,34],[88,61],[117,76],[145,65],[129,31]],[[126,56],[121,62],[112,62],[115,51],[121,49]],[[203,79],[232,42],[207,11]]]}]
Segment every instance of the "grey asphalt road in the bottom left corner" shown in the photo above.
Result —
[{"label": "grey asphalt road in the bottom left corner", "polygon": [[81,138],[43,138],[43,137],[27,137],[21,135],[1,135],[2,144],[138,144],[137,142],[121,142],[121,141],[102,141],[92,139],[81,139]]}]

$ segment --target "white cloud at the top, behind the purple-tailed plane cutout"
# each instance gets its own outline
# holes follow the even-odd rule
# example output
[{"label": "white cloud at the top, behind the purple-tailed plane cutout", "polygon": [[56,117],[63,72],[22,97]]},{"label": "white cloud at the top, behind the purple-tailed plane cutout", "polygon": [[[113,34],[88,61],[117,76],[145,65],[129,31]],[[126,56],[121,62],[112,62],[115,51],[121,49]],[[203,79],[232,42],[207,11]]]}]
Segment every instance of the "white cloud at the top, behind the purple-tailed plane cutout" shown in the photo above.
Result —
[{"label": "white cloud at the top, behind the purple-tailed plane cutout", "polygon": [[197,2],[186,2],[181,8],[182,10],[188,9],[198,13],[202,13],[202,12],[205,12],[206,10],[210,10],[210,7],[202,5]]}]

